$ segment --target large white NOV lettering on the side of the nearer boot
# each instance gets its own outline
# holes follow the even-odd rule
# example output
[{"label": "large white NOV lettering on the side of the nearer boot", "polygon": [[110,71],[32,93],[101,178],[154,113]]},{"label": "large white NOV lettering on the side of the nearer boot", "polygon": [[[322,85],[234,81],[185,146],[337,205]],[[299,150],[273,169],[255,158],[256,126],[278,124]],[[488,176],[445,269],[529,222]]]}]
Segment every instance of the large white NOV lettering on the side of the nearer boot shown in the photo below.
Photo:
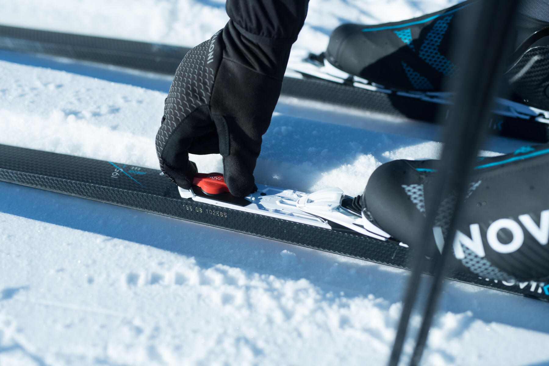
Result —
[{"label": "large white NOV lettering on the side of the nearer boot", "polygon": [[[511,218],[500,218],[492,222],[486,230],[486,237],[484,238],[488,245],[498,253],[509,254],[520,249],[524,243],[524,229],[528,231],[541,245],[547,245],[549,241],[549,210],[541,211],[540,224],[536,224],[534,219],[528,215],[519,215],[518,221],[522,223],[522,226]],[[501,243],[497,238],[497,233],[502,229],[507,229],[513,236],[513,239],[509,243]],[[484,257],[483,237],[480,233],[479,224],[470,224],[468,234],[462,233],[460,230],[456,231],[456,237],[453,240],[453,251],[456,258],[463,259],[465,255],[463,253],[462,245],[468,247],[479,257]],[[433,227],[433,234],[435,236],[436,246],[442,251],[444,246],[444,235],[442,235],[442,229],[439,226]]]}]

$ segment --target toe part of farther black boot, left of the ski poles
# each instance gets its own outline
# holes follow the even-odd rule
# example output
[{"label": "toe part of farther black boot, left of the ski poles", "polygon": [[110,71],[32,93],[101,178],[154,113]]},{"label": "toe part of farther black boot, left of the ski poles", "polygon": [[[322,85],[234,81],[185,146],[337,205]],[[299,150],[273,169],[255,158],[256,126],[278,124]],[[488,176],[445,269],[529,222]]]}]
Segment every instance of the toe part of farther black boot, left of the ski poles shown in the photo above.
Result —
[{"label": "toe part of farther black boot, left of the ski poles", "polygon": [[419,18],[380,25],[344,24],[330,36],[326,59],[349,74],[388,88],[439,91],[459,73],[449,59],[456,20],[478,7],[470,0]]}]

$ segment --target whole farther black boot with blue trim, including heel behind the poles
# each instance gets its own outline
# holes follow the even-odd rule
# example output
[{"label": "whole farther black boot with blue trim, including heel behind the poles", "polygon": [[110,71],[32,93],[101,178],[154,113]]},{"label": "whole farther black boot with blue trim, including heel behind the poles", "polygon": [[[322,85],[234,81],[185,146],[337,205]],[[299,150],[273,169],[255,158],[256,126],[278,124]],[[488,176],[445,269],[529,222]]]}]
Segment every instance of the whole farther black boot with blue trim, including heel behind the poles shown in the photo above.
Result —
[{"label": "whole farther black boot with blue trim, including heel behind the poles", "polygon": [[[441,91],[445,77],[460,75],[460,65],[450,54],[460,19],[471,18],[480,1],[399,22],[341,25],[324,54],[338,69],[386,88]],[[549,110],[549,23],[519,14],[516,24],[516,50],[506,73],[509,85],[517,102]]]}]

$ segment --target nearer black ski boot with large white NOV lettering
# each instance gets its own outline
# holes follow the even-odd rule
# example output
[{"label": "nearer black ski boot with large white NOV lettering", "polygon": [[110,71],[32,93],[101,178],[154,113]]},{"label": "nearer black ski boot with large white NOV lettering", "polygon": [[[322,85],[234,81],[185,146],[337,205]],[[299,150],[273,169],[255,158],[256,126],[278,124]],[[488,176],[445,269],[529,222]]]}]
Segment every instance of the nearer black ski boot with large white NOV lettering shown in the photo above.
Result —
[{"label": "nearer black ski boot with large white NOV lettering", "polygon": [[[361,198],[374,223],[397,240],[419,235],[436,160],[395,160],[369,178]],[[497,157],[479,157],[453,245],[457,260],[484,278],[544,280],[549,276],[549,144],[523,147]],[[438,209],[433,234],[437,246],[448,230]],[[433,248],[436,250],[436,248]]]}]

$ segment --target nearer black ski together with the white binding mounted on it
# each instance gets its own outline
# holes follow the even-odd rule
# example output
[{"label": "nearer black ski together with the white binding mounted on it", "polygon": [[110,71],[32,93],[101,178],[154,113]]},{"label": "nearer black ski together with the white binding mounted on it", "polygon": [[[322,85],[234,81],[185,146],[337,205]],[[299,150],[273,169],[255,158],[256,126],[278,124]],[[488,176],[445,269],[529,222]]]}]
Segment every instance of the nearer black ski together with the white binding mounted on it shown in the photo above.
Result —
[{"label": "nearer black ski together with the white binding mounted on it", "polygon": [[[159,170],[117,162],[88,159],[46,151],[0,145],[0,181],[106,202],[310,247],[361,260],[408,268],[412,249],[397,243],[382,230],[363,225],[366,234],[345,227],[337,214],[334,221],[311,215],[337,209],[341,191],[328,189],[306,194],[258,185],[245,202],[227,202],[220,196],[201,195],[201,189],[178,190]],[[188,194],[188,198],[182,198]],[[194,195],[194,196],[193,196]],[[301,202],[300,202],[301,200]],[[256,202],[253,202],[256,201]],[[301,209],[297,205],[301,205]],[[327,205],[334,206],[327,207]],[[243,206],[244,205],[244,206]],[[320,206],[320,209],[319,209]],[[246,208],[248,207],[248,208]],[[337,213],[337,212],[336,212]],[[348,214],[349,212],[345,212]],[[323,215],[325,216],[325,215]],[[356,215],[355,215],[356,216]],[[351,224],[364,224],[360,217]],[[339,223],[337,222],[338,220]],[[372,232],[370,232],[372,230]],[[428,260],[431,273],[435,260]],[[479,278],[456,269],[450,279],[516,295],[549,301],[549,284],[506,282]]]}]

